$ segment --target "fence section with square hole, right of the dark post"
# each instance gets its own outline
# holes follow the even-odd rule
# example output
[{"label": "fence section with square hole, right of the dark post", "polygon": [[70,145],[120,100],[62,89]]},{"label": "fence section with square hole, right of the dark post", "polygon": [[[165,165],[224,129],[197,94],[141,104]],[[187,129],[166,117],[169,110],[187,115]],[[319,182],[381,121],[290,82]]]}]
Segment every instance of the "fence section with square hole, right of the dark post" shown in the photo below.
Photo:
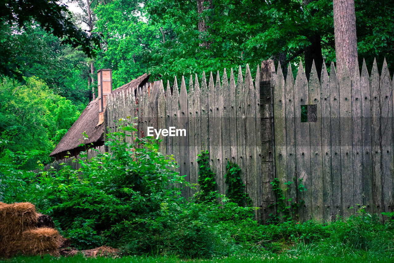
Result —
[{"label": "fence section with square hole, right of the dark post", "polygon": [[[290,66],[288,72],[284,81],[278,67],[273,92],[275,168],[282,183],[296,181],[287,197],[305,201],[300,219],[329,221],[363,205],[370,213],[393,211],[393,88],[386,61],[381,77],[376,62],[370,76],[365,62],[361,76],[345,68],[340,79],[333,64],[330,77],[323,65],[320,81],[314,65],[309,82],[302,64],[295,82]],[[297,191],[298,179],[307,192]]]}]

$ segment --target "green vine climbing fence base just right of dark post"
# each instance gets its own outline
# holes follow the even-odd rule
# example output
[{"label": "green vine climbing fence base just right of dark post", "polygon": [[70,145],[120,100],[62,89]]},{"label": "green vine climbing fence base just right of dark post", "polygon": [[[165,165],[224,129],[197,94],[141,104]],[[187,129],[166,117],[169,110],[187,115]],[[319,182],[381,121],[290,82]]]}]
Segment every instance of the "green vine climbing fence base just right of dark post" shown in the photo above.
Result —
[{"label": "green vine climbing fence base just right of dark post", "polygon": [[[299,178],[298,179],[298,185],[297,185],[297,193],[302,196],[303,192],[307,191],[307,188],[304,186],[302,183],[303,179]],[[294,182],[296,182],[296,178],[294,178]],[[290,185],[294,184],[294,182],[284,182],[284,185]],[[284,188],[282,189],[280,186],[280,181],[278,178],[274,178],[272,182],[270,182],[272,185],[272,190],[276,195],[277,202],[274,203],[274,205],[277,206],[277,213],[276,215],[271,214],[271,220],[275,221],[280,221],[283,218],[284,219],[291,219],[290,212],[294,214],[296,218],[298,218],[298,213],[299,213],[299,207],[302,207],[304,205],[304,199],[299,198],[299,202],[297,200],[293,200],[293,198],[286,198],[286,192],[288,191],[289,188]]]}]

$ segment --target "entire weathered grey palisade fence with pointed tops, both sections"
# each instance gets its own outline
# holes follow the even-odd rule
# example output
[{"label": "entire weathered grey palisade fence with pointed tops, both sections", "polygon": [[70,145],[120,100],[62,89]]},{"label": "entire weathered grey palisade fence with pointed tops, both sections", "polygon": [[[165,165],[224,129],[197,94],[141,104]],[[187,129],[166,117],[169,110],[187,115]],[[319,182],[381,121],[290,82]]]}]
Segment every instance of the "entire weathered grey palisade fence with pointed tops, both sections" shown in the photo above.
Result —
[{"label": "entire weathered grey palisade fence with pointed tops, both sections", "polygon": [[[330,76],[323,67],[320,80],[313,65],[309,81],[302,64],[295,81],[290,66],[285,81],[271,60],[261,72],[257,67],[254,82],[249,66],[245,71],[245,78],[239,68],[237,79],[224,70],[216,81],[212,73],[206,81],[203,73],[190,76],[188,87],[182,77],[180,87],[175,78],[166,90],[156,81],[150,89],[112,94],[106,125],[116,131],[117,120],[136,116],[140,137],[149,126],[185,129],[186,136],[161,136],[160,151],[173,155],[180,174],[197,184],[197,154],[208,150],[223,194],[227,161],[236,162],[263,222],[277,210],[274,178],[291,199],[287,205],[298,204],[290,214],[302,221],[334,220],[362,205],[378,214],[393,210],[394,91],[386,62],[381,77],[376,62],[370,76],[364,63],[361,75],[345,69],[340,79],[333,65]],[[307,191],[299,190],[301,183]]]}]

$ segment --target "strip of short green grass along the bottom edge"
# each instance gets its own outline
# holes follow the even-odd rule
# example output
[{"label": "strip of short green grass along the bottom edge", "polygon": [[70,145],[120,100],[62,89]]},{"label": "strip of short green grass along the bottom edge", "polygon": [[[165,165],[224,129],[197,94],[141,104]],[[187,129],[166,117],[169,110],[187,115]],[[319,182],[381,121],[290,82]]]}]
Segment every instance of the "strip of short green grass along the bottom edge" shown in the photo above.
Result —
[{"label": "strip of short green grass along the bottom edge", "polygon": [[218,263],[247,263],[247,262],[269,262],[269,263],[358,263],[358,262],[394,262],[394,257],[327,257],[325,255],[304,255],[298,257],[284,257],[284,256],[275,256],[275,257],[265,257],[265,256],[230,256],[224,258],[212,258],[212,259],[178,259],[176,257],[137,257],[137,256],[129,256],[129,257],[116,257],[116,258],[106,258],[106,257],[97,257],[97,258],[85,258],[81,255],[77,255],[74,257],[51,257],[48,255],[45,256],[19,256],[14,257],[12,259],[7,259],[7,263],[23,263],[23,262],[40,262],[40,263],[52,263],[52,262],[65,262],[65,263],[208,263],[208,262],[218,262]]}]

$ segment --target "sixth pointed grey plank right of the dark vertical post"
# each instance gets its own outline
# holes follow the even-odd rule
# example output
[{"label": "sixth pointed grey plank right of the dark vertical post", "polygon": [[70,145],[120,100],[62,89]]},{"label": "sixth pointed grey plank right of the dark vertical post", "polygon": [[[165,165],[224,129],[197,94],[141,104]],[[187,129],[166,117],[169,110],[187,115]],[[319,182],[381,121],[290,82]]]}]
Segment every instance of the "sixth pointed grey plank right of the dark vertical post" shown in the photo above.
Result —
[{"label": "sixth pointed grey plank right of the dark vertical post", "polygon": [[334,63],[330,70],[330,107],[331,107],[331,174],[333,178],[333,213],[342,216],[341,189],[341,147],[340,147],[340,111],[339,85]]}]

